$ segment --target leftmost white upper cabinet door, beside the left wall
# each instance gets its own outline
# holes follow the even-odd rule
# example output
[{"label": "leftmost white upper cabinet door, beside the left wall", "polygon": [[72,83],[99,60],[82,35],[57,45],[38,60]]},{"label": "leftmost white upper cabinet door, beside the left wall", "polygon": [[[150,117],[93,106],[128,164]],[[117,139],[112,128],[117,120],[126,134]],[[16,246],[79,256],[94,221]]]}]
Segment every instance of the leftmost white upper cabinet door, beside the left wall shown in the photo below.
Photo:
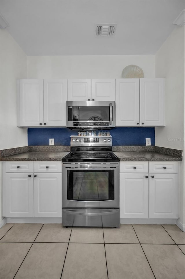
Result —
[{"label": "leftmost white upper cabinet door, beside the left wall", "polygon": [[43,81],[17,81],[17,126],[43,126]]}]

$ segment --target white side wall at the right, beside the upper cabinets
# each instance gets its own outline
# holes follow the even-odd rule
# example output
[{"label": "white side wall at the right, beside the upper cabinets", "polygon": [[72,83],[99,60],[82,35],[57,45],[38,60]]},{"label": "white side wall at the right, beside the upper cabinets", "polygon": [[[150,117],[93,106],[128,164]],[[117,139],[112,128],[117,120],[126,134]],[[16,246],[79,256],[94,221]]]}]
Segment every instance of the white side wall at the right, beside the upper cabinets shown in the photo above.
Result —
[{"label": "white side wall at the right, beside the upper cabinets", "polygon": [[[155,145],[185,150],[185,26],[176,26],[155,56],[156,77],[166,78],[166,126],[155,128]],[[184,157],[184,156],[183,156]],[[183,159],[184,160],[184,159]],[[180,162],[179,217],[185,225],[185,162]]]}]

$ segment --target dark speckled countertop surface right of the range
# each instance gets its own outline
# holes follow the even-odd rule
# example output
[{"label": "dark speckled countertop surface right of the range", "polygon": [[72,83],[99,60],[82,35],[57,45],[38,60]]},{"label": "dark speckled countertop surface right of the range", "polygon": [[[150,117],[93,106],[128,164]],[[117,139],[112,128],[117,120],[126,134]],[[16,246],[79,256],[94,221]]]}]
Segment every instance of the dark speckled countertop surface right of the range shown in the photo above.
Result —
[{"label": "dark speckled countertop surface right of the range", "polygon": [[159,152],[122,151],[113,152],[121,161],[182,161],[180,157],[174,157]]}]

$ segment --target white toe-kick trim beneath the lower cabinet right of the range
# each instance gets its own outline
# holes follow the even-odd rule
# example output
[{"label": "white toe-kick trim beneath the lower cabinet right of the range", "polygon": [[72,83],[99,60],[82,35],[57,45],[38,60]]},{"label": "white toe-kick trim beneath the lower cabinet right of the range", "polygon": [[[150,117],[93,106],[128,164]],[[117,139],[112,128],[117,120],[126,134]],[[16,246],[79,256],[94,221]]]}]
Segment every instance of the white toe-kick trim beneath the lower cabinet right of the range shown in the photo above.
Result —
[{"label": "white toe-kick trim beneath the lower cabinet right of the range", "polygon": [[120,224],[177,224],[177,219],[120,218]]}]

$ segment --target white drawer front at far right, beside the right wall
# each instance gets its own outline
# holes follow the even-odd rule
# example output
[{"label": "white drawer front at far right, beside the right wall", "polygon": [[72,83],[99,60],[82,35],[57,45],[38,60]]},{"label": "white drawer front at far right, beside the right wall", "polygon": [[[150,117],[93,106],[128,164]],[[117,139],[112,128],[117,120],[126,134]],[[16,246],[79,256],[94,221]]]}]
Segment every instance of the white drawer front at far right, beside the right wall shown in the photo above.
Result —
[{"label": "white drawer front at far right, beside the right wall", "polygon": [[178,173],[178,162],[149,162],[150,173]]}]

